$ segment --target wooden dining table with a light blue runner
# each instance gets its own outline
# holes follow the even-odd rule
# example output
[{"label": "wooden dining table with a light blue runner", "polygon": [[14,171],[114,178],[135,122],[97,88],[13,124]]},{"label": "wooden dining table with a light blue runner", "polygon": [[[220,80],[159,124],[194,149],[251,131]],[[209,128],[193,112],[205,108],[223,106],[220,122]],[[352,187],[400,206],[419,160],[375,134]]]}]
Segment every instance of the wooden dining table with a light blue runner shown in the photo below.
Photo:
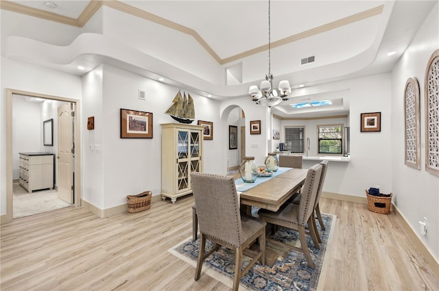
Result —
[{"label": "wooden dining table with a light blue runner", "polygon": [[236,179],[235,186],[239,192],[241,211],[250,214],[251,207],[256,206],[276,212],[300,190],[307,173],[308,169],[304,168],[280,167],[277,173],[271,176],[257,177],[257,183],[253,185]]}]

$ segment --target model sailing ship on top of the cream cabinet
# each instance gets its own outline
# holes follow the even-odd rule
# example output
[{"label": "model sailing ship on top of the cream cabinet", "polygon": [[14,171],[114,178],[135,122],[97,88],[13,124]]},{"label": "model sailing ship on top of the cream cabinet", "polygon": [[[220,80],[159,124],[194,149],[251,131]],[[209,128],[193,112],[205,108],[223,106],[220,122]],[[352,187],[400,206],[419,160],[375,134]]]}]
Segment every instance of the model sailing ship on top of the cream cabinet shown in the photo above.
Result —
[{"label": "model sailing ship on top of the cream cabinet", "polygon": [[192,123],[195,120],[195,108],[191,95],[187,93],[186,97],[186,93],[183,93],[182,96],[179,90],[165,114],[170,115],[179,123]]}]

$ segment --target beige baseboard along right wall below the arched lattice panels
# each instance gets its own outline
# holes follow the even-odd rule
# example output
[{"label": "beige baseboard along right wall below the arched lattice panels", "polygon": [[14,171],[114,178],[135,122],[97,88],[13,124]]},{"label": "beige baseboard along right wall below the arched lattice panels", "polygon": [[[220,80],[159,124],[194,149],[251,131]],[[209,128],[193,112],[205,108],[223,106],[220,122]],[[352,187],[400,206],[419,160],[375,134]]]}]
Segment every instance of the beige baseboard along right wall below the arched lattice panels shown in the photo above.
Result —
[{"label": "beige baseboard along right wall below the arched lattice panels", "polygon": [[412,227],[407,223],[407,220],[405,220],[403,214],[399,212],[399,209],[395,207],[393,203],[392,203],[392,210],[396,216],[396,219],[399,221],[401,227],[403,227],[405,231],[405,235],[410,236],[410,239],[414,242],[413,248],[419,251],[419,253],[424,257],[425,262],[427,262],[431,270],[433,270],[433,273],[434,275],[436,275],[436,278],[439,279],[439,262],[435,259],[433,254],[431,254],[429,249],[427,249],[423,241],[420,240],[418,234],[416,234],[416,231],[414,231],[414,229],[412,229]]}]

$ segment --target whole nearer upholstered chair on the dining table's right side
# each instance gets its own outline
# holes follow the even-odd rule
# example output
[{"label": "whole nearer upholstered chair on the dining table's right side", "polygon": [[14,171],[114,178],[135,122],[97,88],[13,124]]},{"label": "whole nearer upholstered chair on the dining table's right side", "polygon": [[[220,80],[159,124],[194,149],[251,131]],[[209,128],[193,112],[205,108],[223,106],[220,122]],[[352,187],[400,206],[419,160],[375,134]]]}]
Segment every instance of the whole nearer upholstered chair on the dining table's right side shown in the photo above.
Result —
[{"label": "whole nearer upholstered chair on the dining table's right side", "polygon": [[314,219],[312,213],[321,175],[322,165],[315,164],[309,168],[299,205],[287,203],[277,212],[259,210],[259,218],[262,218],[266,223],[272,223],[274,225],[298,231],[300,248],[290,245],[287,246],[296,251],[301,251],[307,259],[309,268],[314,268],[314,263],[307,244],[305,226],[308,224],[309,234],[311,235],[313,243],[316,247],[320,248],[320,245],[317,242],[316,233],[314,233],[312,227],[312,220]]}]

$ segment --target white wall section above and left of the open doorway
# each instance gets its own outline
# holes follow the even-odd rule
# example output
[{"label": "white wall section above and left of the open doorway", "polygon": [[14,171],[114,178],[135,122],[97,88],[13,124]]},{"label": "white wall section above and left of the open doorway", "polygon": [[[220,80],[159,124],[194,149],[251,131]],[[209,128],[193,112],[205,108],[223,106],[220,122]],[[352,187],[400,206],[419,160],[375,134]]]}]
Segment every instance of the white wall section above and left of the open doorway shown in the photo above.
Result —
[{"label": "white wall section above and left of the open doorway", "polygon": [[[1,10],[3,12],[3,10]],[[2,14],[3,15],[3,14]],[[81,78],[67,73],[16,62],[1,56],[1,98],[0,112],[5,120],[5,89],[12,88],[71,99],[81,98]],[[1,123],[1,215],[6,214],[6,125]]]}]

